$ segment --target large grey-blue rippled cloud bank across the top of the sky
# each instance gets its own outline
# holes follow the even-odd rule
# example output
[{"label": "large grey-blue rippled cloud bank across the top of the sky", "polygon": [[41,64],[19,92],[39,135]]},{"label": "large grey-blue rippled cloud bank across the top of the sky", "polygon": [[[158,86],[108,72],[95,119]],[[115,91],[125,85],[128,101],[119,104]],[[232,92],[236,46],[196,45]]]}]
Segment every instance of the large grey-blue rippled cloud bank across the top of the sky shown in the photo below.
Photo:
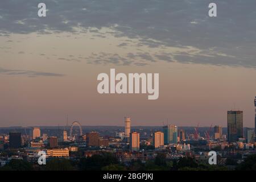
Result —
[{"label": "large grey-blue rippled cloud bank across the top of the sky", "polygon": [[[44,2],[49,10],[46,18],[37,16],[38,9],[32,0],[0,1],[0,36],[89,31],[95,39],[98,36],[105,38],[107,34],[136,39],[138,47],[193,47],[205,52],[204,55],[180,53],[170,57],[159,57],[157,53],[156,57],[168,62],[255,68],[255,0],[217,1],[216,18],[208,16],[210,0]],[[101,34],[104,27],[111,31]],[[123,60],[119,61],[124,63]],[[118,64],[114,57],[106,59],[104,63],[108,62]]]}]

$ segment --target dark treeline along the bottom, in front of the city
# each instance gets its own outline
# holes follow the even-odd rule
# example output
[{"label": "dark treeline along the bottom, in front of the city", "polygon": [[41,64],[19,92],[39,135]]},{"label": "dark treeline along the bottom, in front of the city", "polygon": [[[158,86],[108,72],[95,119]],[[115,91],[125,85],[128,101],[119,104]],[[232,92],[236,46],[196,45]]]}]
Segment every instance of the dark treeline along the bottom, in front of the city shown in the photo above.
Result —
[{"label": "dark treeline along the bottom, in front of the city", "polygon": [[[192,158],[180,158],[179,160],[167,160],[165,154],[158,154],[155,160],[131,162],[129,166],[121,164],[113,154],[104,153],[93,155],[79,160],[51,159],[46,165],[31,164],[26,160],[13,159],[3,171],[125,171],[125,170],[153,170],[153,171],[227,171],[225,166],[199,164]],[[245,161],[236,167],[236,170],[256,170],[256,155],[249,155]]]}]

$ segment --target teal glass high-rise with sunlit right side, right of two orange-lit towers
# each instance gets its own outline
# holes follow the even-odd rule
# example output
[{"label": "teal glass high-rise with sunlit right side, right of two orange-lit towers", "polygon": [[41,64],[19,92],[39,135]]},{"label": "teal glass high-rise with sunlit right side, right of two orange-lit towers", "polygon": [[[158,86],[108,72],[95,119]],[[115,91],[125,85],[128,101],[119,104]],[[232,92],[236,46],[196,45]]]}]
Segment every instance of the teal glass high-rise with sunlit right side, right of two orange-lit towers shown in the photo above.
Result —
[{"label": "teal glass high-rise with sunlit right side, right of two orange-lit towers", "polygon": [[177,126],[167,125],[163,127],[164,144],[177,143]]}]

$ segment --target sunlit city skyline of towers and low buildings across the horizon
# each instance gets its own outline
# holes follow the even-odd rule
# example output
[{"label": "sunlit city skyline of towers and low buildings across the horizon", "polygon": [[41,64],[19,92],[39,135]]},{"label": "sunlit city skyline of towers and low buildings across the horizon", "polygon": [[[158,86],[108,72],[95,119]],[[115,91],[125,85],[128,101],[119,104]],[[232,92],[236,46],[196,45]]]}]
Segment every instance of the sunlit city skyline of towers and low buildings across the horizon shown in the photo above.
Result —
[{"label": "sunlit city skyline of towers and low buildings across the horizon", "polygon": [[[112,159],[109,163],[111,164],[114,160],[115,166],[122,169],[134,170],[133,167],[138,165],[134,163],[139,162],[147,166],[146,168],[141,166],[139,170],[148,169],[149,166],[151,166],[150,169],[166,167],[177,170],[181,166],[176,167],[173,165],[175,162],[189,160],[190,163],[194,163],[193,167],[189,168],[184,164],[187,167],[184,168],[185,170],[192,168],[205,170],[211,168],[210,153],[215,152],[217,158],[214,168],[228,171],[239,169],[240,164],[246,163],[247,158],[255,156],[254,130],[243,128],[243,111],[227,111],[228,130],[222,133],[222,127],[215,125],[212,134],[211,125],[209,129],[204,130],[204,136],[199,133],[199,125],[194,128],[195,130],[180,129],[176,125],[167,124],[160,130],[140,127],[131,131],[132,123],[133,119],[123,117],[122,129],[118,127],[107,130],[89,129],[83,133],[80,122],[74,121],[69,136],[67,127],[63,127],[63,135],[60,134],[59,127],[42,129],[42,131],[40,127],[32,127],[29,135],[26,129],[24,132],[3,130],[4,132],[0,134],[0,152],[5,152],[0,153],[0,169],[10,170],[15,167],[15,163],[27,163],[32,167],[28,166],[24,170],[40,170],[42,164],[47,167],[48,163],[55,160],[65,160],[79,162],[79,165],[71,163],[72,169],[79,170],[81,164],[85,163],[85,170],[96,169],[95,167],[102,170],[103,167],[108,166],[108,159]],[[72,131],[73,126],[78,126],[79,130]],[[106,160],[99,160],[104,156]],[[101,165],[98,167],[98,162],[93,162],[93,166],[89,167],[85,162],[95,159],[98,162],[104,161],[101,164],[103,167]],[[167,166],[167,162],[172,162],[172,165]],[[247,167],[250,168],[253,164],[248,164]],[[121,168],[114,170],[119,169]],[[62,170],[65,169],[62,168]]]}]

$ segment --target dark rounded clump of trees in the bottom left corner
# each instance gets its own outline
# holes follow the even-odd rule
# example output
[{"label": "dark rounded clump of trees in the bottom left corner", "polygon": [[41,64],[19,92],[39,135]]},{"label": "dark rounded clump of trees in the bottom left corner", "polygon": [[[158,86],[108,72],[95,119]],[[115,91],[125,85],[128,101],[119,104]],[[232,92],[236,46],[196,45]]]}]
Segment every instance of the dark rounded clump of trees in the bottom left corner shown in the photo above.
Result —
[{"label": "dark rounded clump of trees in the bottom left corner", "polygon": [[11,159],[6,166],[0,168],[2,171],[32,171],[32,164],[20,159]]}]

